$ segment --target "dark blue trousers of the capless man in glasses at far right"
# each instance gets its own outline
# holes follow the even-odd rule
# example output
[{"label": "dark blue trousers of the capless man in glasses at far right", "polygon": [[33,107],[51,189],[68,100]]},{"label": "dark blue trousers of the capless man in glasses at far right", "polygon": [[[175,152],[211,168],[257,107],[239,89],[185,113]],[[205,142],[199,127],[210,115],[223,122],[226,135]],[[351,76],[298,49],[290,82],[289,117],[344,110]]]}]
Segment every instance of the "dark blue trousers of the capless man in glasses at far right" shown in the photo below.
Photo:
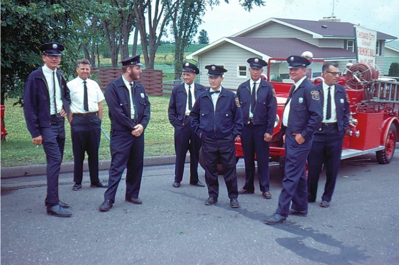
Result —
[{"label": "dark blue trousers of the capless man in glasses at far right", "polygon": [[308,157],[309,176],[307,179],[308,197],[316,199],[317,183],[324,163],[326,182],[322,200],[331,201],[341,164],[342,143],[345,132],[338,131],[336,125],[326,125],[314,134],[312,149]]}]

